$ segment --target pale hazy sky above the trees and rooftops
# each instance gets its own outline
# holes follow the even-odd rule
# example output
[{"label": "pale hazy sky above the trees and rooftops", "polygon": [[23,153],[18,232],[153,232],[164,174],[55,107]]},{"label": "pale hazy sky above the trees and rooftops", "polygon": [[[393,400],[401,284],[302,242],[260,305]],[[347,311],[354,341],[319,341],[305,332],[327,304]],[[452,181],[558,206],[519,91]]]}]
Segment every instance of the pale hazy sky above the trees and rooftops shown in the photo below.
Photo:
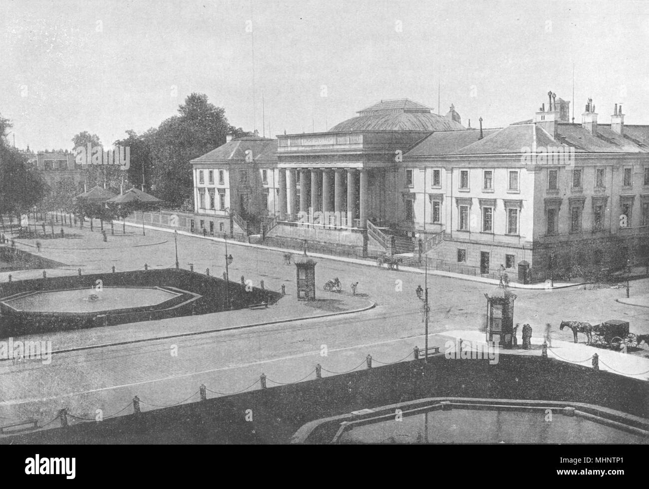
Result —
[{"label": "pale hazy sky above the trees and rooftops", "polygon": [[576,122],[591,97],[649,124],[648,42],[647,1],[0,0],[0,115],[32,150],[139,134],[192,92],[273,137],[398,98],[502,127],[572,101],[574,66]]}]

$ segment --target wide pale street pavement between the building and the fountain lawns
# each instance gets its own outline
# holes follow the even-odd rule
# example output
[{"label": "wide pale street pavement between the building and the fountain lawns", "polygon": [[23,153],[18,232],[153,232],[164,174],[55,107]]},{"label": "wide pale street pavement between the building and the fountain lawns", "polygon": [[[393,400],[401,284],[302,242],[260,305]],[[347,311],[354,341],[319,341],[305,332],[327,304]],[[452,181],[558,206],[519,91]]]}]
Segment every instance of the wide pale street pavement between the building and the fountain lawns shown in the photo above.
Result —
[{"label": "wide pale street pavement between the building and the fountain lawns", "polygon": [[[127,228],[128,230],[129,228]],[[100,233],[75,229],[83,235],[86,246],[74,249],[42,248],[42,255],[66,263],[65,267],[47,270],[48,276],[84,273],[109,273],[112,265],[117,271],[142,269],[144,263],[153,268],[172,267],[175,262],[173,235],[147,230],[149,246],[136,246],[139,239],[117,241],[108,235],[108,242],[121,245],[104,248]],[[151,239],[149,242],[148,240]],[[67,240],[56,240],[56,243]],[[129,245],[127,245],[129,243]],[[18,240],[17,246],[31,252],[29,240]],[[197,237],[178,235],[180,266],[197,271],[209,267],[214,275],[225,269],[223,243]],[[295,310],[295,267],[286,265],[281,252],[241,246],[228,242],[228,254],[234,256],[230,278],[243,275],[254,285],[265,281],[268,289],[280,290],[286,285],[288,296],[280,303],[288,311]],[[295,254],[299,256],[299,254]],[[359,281],[361,303],[376,303],[374,309],[353,315],[304,319],[256,328],[219,331],[175,339],[143,341],[134,344],[106,346],[53,355],[50,364],[38,360],[19,363],[0,361],[0,423],[35,418],[43,425],[66,407],[81,418],[94,420],[97,409],[104,416],[129,407],[133,396],[143,401],[143,411],[160,405],[170,405],[190,398],[197,400],[201,383],[208,387],[208,396],[216,392],[231,393],[241,389],[259,388],[259,376],[267,376],[268,385],[313,378],[315,364],[323,366],[323,376],[352,368],[364,368],[365,357],[371,354],[376,364],[412,358],[414,346],[422,347],[422,303],[415,296],[417,285],[424,283],[419,273],[379,269],[358,263],[343,263],[319,258],[316,266],[318,287],[334,277],[343,283],[346,297],[350,283]],[[0,283],[8,274],[0,274]],[[42,270],[13,272],[14,280],[42,276]],[[429,276],[430,333],[450,330],[474,330],[484,327],[484,294],[495,286],[453,278]],[[624,289],[516,290],[515,322],[532,325],[535,336],[546,322],[553,325],[554,338],[572,340],[569,330],[559,331],[561,320],[601,322],[618,318],[628,320],[633,333],[649,333],[649,315],[643,307],[616,302],[626,297]],[[631,296],[649,293],[649,280],[631,282]],[[319,296],[324,292],[318,292]],[[300,309],[303,311],[303,309]],[[236,313],[236,311],[235,311]],[[256,311],[255,311],[256,313]],[[227,313],[230,314],[230,313]],[[301,314],[301,312],[300,312]],[[263,314],[260,314],[263,315]],[[205,328],[201,322],[227,323],[229,319],[177,318],[169,324],[146,322],[139,324],[57,333],[56,344],[82,346],[97,342],[110,343],[156,335],[169,331],[195,331]],[[198,319],[197,319],[198,317]],[[243,316],[242,316],[243,317]],[[232,320],[233,322],[235,320]],[[242,319],[243,321],[243,319]],[[205,328],[210,329],[210,328]],[[136,331],[135,333],[133,331]],[[585,337],[580,337],[585,342]],[[431,344],[443,346],[442,338],[430,337]],[[55,350],[56,344],[53,344]],[[645,347],[646,348],[646,347]],[[177,355],[174,354],[177,352]],[[326,355],[325,355],[326,354]],[[649,357],[649,350],[635,353]],[[79,420],[81,422],[82,420]],[[58,421],[50,426],[58,425]]]}]

